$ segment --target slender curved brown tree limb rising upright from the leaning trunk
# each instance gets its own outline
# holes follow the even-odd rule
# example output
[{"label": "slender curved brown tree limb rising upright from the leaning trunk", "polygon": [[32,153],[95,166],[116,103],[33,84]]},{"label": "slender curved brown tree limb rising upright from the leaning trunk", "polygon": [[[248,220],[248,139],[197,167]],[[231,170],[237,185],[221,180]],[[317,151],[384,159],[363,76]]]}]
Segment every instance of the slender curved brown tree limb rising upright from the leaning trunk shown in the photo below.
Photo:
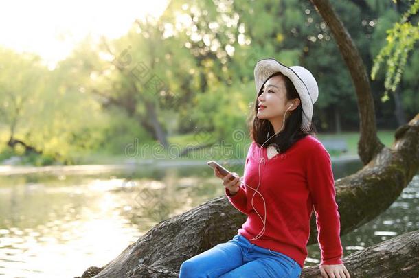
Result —
[{"label": "slender curved brown tree limb rising upright from the leaning trunk", "polygon": [[354,41],[329,1],[310,1],[332,31],[339,51],[352,77],[356,99],[358,101],[359,132],[361,132],[358,143],[358,154],[365,165],[384,147],[383,143],[377,137],[374,100],[371,93],[370,79],[367,76],[367,71]]}]

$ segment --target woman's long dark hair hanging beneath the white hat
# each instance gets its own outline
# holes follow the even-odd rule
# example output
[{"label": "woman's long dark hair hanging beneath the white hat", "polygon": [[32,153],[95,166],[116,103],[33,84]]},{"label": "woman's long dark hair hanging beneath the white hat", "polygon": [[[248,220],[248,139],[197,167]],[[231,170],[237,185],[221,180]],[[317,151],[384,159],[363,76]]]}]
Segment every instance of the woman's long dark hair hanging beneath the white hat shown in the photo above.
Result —
[{"label": "woman's long dark hair hanging beneath the white hat", "polygon": [[[299,105],[297,108],[295,108],[293,111],[291,111],[291,115],[289,115],[288,118],[285,120],[284,129],[278,133],[278,135],[275,135],[271,137],[274,133],[273,126],[271,125],[271,122],[267,119],[258,119],[257,113],[258,113],[258,106],[259,106],[259,100],[258,97],[262,93],[263,85],[260,88],[260,91],[258,92],[258,96],[256,97],[255,106],[253,109],[253,124],[250,126],[249,131],[251,134],[251,139],[258,143],[259,146],[262,146],[264,143],[264,148],[267,148],[267,146],[274,144],[276,150],[278,152],[286,152],[288,148],[291,148],[293,146],[293,143],[298,141],[299,139],[302,139],[306,137],[306,135],[313,135],[316,137],[317,129],[315,127],[315,124],[313,121],[310,125],[310,130],[303,131],[301,128],[302,124],[302,104],[301,104],[301,98],[299,97],[297,90],[295,89],[295,86],[291,80],[284,76],[282,73],[277,72],[273,73],[273,75],[269,76],[269,78],[273,76],[283,76],[285,80],[285,88],[286,88],[286,100],[292,100],[295,98],[298,98],[300,100]],[[269,80],[267,78],[267,80]],[[267,82],[265,80],[264,83]],[[289,113],[289,111],[287,112]],[[267,141],[267,135],[269,130],[269,141]],[[267,141],[265,143],[265,141]]]}]

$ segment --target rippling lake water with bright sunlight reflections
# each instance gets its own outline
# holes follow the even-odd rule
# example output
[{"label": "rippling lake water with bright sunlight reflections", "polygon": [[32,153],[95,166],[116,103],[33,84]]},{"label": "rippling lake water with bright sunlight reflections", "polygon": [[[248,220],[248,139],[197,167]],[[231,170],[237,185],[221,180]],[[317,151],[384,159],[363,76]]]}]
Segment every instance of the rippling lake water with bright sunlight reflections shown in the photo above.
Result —
[{"label": "rippling lake water with bright sunlight reflections", "polygon": [[[335,179],[360,167],[359,161],[334,161]],[[224,194],[205,163],[137,168],[32,168],[31,174],[1,175],[0,277],[82,275],[114,259],[157,222]],[[236,169],[241,175],[242,165]],[[419,229],[418,200],[416,175],[381,216],[343,235],[344,255]],[[318,244],[308,246],[306,266],[319,258]]]}]

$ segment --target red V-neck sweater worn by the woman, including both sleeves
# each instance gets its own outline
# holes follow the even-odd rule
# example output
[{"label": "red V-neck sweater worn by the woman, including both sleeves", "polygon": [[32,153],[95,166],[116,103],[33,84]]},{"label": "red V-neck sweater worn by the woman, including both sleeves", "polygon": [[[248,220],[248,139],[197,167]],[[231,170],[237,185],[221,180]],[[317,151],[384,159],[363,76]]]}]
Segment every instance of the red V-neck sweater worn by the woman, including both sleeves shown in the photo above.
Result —
[{"label": "red V-neck sweater worn by the woman, including both sleeves", "polygon": [[[265,146],[260,149],[260,145],[253,141],[249,147],[243,175],[247,186],[241,183],[234,196],[225,188],[231,204],[247,215],[238,233],[257,246],[284,253],[304,268],[314,206],[321,264],[341,264],[340,215],[335,202],[330,154],[311,135],[269,160]],[[249,187],[258,188],[264,197],[266,213],[262,197]],[[257,212],[251,203],[253,194],[253,206]],[[266,223],[264,231],[262,220]],[[263,235],[251,240],[262,234],[260,231]]]}]

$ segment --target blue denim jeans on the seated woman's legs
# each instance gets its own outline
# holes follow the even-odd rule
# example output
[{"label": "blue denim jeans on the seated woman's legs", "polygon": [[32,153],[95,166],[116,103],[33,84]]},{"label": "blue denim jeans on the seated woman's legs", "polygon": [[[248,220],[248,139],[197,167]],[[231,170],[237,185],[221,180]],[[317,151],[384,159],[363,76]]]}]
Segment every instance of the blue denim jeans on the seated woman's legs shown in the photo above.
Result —
[{"label": "blue denim jeans on the seated woman's legs", "polygon": [[256,246],[238,234],[183,262],[179,278],[299,277],[301,271],[291,257]]}]

